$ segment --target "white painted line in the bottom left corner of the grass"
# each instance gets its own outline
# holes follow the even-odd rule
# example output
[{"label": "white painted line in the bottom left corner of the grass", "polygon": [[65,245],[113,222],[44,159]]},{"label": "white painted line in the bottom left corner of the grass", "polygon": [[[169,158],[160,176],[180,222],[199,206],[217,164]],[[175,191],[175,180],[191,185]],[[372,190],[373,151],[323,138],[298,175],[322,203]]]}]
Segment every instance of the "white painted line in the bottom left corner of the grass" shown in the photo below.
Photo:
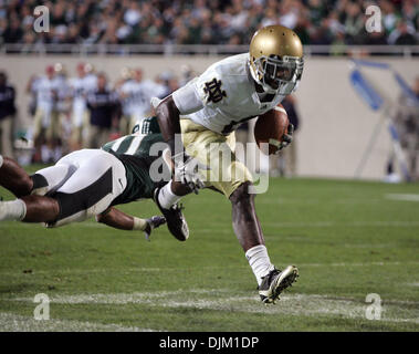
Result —
[{"label": "white painted line in the bottom left corner of the grass", "polygon": [[0,332],[154,332],[149,329],[123,326],[119,324],[103,324],[80,322],[73,320],[50,319],[36,321],[33,317],[13,313],[0,312]]}]

